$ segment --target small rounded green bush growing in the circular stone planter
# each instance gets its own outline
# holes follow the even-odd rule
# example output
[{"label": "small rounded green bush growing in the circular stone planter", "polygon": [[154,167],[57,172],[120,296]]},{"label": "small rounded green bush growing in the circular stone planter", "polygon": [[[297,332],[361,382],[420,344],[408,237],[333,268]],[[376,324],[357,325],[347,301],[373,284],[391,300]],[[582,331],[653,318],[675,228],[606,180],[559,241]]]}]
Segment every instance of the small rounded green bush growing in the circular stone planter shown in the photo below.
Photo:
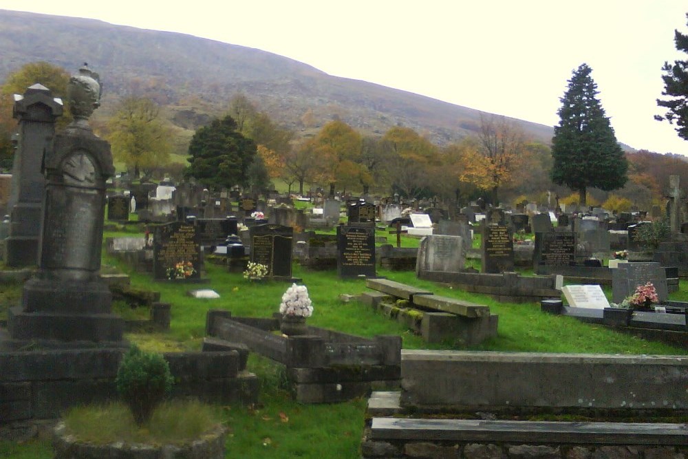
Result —
[{"label": "small rounded green bush growing in the circular stone planter", "polygon": [[147,423],[172,390],[169,364],[162,355],[144,352],[132,345],[117,370],[115,384],[122,400],[131,409],[137,425]]}]

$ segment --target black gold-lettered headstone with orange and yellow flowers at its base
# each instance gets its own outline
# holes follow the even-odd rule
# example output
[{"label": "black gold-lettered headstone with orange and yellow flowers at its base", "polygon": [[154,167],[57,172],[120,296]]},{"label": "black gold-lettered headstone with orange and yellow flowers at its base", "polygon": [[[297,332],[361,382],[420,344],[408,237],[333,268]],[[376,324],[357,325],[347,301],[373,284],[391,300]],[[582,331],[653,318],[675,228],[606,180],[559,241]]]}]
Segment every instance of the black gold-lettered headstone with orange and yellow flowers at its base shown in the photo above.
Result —
[{"label": "black gold-lettered headstone with orange and yellow flowers at its base", "polygon": [[193,223],[155,226],[153,276],[158,280],[196,281],[201,277],[201,241]]}]

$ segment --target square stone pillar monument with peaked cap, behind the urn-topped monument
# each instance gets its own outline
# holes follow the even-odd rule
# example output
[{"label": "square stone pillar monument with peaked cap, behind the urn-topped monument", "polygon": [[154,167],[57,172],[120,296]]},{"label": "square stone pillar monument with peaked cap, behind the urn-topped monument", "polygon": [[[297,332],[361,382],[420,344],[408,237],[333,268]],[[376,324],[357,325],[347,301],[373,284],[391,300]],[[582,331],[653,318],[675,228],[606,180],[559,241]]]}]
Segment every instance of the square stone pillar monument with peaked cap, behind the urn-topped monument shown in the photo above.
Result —
[{"label": "square stone pillar monument with peaked cap, behind the urn-topped monument", "polygon": [[53,98],[50,89],[43,85],[29,87],[23,96],[14,94],[12,116],[19,120],[19,136],[12,165],[7,266],[16,268],[37,263],[45,191],[41,160],[43,151],[52,142],[55,122],[62,111],[62,100]]}]

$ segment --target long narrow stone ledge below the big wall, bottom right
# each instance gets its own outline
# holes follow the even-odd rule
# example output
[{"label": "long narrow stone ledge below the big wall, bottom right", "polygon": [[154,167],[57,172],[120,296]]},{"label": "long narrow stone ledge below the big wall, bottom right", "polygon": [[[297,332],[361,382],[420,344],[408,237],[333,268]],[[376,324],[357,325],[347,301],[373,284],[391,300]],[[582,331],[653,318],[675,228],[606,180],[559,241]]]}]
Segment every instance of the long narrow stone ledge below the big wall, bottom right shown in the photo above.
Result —
[{"label": "long narrow stone ledge below the big wall, bottom right", "polygon": [[373,418],[371,440],[688,445],[688,427],[670,423]]}]

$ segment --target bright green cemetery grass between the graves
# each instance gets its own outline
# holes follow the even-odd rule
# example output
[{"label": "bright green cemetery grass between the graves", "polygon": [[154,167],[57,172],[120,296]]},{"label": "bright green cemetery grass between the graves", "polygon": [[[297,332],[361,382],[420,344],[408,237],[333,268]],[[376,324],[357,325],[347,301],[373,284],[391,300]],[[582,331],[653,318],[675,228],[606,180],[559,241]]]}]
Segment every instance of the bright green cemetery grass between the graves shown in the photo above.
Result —
[{"label": "bright green cemetery grass between the graves", "polygon": [[[270,317],[277,312],[281,295],[288,284],[268,281],[252,284],[239,273],[227,273],[224,267],[206,264],[204,277],[211,284],[153,283],[151,276],[136,273],[129,266],[105,257],[105,263],[131,275],[137,288],[160,290],[161,301],[172,304],[171,330],[157,334],[127,334],[127,339],[142,348],[198,350],[204,337],[206,312],[211,309],[232,311],[235,316]],[[643,341],[590,325],[570,317],[552,316],[539,310],[536,303],[497,303],[485,295],[471,294],[416,279],[413,272],[378,270],[378,274],[405,284],[427,288],[447,297],[455,297],[490,306],[499,315],[499,337],[471,350],[522,352],[581,352],[605,354],[685,354],[661,343]],[[308,286],[314,303],[310,325],[333,328],[365,337],[398,334],[406,349],[464,349],[458,343],[424,343],[396,321],[387,319],[357,301],[342,302],[338,295],[358,295],[367,290],[365,281],[338,279],[333,271],[313,272],[294,264],[294,276]],[[193,299],[186,295],[195,288],[213,288],[220,299]],[[688,284],[681,281],[682,295]],[[674,294],[675,295],[675,294]],[[678,299],[678,297],[676,298]],[[219,407],[229,430],[226,457],[231,458],[358,458],[358,447],[365,422],[365,398],[334,405],[300,405],[292,401],[285,387],[284,368],[252,354],[248,370],[260,383],[259,403]],[[6,456],[3,456],[5,454]],[[50,440],[31,440],[22,445],[0,442],[0,457],[52,457]]]}]

